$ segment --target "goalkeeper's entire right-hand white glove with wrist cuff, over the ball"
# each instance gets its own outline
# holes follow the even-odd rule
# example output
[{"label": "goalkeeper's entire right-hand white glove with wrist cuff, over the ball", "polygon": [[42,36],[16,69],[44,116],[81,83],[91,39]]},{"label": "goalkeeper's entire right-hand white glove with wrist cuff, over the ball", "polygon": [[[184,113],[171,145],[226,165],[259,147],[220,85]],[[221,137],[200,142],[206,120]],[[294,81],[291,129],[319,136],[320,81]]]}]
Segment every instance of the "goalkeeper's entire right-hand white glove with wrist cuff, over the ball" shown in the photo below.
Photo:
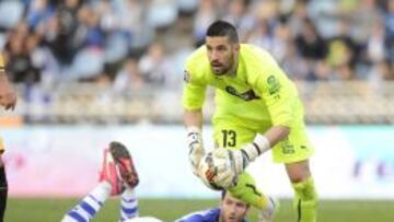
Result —
[{"label": "goalkeeper's entire right-hand white glove with wrist cuff, over the ball", "polygon": [[213,150],[213,157],[224,159],[229,162],[229,167],[218,171],[216,183],[224,188],[234,186],[239,175],[244,172],[247,165],[269,149],[268,139],[257,135],[253,142],[243,145],[240,150],[229,151],[224,148]]}]

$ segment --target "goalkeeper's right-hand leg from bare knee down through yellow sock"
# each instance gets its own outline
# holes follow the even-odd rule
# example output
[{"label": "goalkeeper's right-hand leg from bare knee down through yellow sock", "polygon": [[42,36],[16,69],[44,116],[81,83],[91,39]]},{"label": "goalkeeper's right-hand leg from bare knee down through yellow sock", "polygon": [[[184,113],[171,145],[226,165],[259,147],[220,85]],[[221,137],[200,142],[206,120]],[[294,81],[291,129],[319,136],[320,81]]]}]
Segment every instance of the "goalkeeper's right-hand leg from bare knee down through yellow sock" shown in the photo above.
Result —
[{"label": "goalkeeper's right-hand leg from bare knee down through yellow sock", "polygon": [[298,222],[315,222],[317,217],[317,192],[308,161],[286,164],[294,189],[293,208]]}]

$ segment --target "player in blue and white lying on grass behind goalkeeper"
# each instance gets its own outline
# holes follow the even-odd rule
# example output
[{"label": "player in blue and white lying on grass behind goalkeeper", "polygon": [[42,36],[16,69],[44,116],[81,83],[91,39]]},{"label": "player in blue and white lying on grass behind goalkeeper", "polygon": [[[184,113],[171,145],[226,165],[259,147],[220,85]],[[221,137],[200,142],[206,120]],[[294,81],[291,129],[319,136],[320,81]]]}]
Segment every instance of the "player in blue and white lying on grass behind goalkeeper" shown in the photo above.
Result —
[{"label": "player in blue and white lying on grass behind goalkeeper", "polygon": [[[61,222],[89,222],[109,196],[120,195],[120,222],[161,222],[151,217],[139,217],[138,199],[134,188],[138,174],[130,153],[119,142],[111,142],[104,150],[99,185],[63,217]],[[177,222],[246,222],[250,205],[223,191],[217,208],[194,212]]]}]

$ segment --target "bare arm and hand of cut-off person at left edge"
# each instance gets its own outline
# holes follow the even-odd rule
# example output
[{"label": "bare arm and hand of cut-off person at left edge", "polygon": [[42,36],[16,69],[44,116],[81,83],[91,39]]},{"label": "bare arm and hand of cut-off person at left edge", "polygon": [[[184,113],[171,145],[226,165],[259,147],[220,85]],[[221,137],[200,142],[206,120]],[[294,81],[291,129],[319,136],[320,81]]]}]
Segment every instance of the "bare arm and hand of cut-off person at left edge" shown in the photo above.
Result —
[{"label": "bare arm and hand of cut-off person at left edge", "polygon": [[0,56],[0,105],[8,109],[14,109],[16,105],[16,94],[9,82],[2,56]]}]

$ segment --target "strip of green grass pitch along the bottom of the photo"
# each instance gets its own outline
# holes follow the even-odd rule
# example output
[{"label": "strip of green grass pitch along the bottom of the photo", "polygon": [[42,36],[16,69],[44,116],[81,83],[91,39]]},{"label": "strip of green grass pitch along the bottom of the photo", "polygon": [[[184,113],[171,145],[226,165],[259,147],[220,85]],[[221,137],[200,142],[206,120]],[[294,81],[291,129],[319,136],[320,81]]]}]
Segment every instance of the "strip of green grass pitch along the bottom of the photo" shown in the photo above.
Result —
[{"label": "strip of green grass pitch along the bottom of the photo", "polygon": [[[62,215],[79,199],[22,199],[10,198],[5,222],[59,222]],[[281,209],[276,222],[296,222],[290,200],[281,200]],[[174,221],[192,211],[207,209],[218,205],[218,200],[192,199],[141,199],[140,214],[152,215],[165,222]],[[117,222],[118,199],[108,200],[93,222]],[[248,217],[257,221],[256,211]],[[394,200],[322,200],[318,208],[318,222],[394,222]]]}]

